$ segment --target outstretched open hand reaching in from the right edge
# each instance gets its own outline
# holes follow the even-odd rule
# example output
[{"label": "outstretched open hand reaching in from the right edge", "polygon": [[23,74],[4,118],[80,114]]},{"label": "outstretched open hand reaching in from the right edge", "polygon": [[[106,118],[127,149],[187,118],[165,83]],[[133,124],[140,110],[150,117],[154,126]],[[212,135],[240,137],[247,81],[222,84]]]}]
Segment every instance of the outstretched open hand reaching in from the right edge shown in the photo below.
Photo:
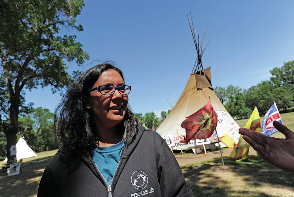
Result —
[{"label": "outstretched open hand reaching in from the right edge", "polygon": [[265,136],[247,128],[240,128],[239,133],[261,158],[278,168],[294,172],[294,132],[277,121],[273,122],[273,126],[286,139]]}]

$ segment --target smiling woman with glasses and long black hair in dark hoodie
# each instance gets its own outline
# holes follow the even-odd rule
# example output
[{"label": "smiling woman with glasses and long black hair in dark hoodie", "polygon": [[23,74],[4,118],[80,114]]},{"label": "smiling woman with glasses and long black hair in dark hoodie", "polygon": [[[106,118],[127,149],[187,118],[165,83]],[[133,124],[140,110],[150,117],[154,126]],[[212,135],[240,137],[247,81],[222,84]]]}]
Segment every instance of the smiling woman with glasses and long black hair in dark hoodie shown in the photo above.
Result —
[{"label": "smiling woman with glasses and long black hair in dark hoodie", "polygon": [[55,110],[63,147],[38,196],[193,196],[164,139],[138,125],[131,87],[109,62],[83,73]]}]

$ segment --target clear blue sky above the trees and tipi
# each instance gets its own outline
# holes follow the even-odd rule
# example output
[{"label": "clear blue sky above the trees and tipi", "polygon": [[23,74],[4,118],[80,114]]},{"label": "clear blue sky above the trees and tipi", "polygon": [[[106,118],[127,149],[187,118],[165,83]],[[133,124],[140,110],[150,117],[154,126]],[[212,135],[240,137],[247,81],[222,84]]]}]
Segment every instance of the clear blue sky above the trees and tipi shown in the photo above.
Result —
[{"label": "clear blue sky above the trees and tipi", "polygon": [[[197,57],[190,13],[200,39],[208,26],[202,62],[211,66],[213,87],[247,89],[294,60],[293,0],[86,0],[77,17],[84,31],[62,33],[76,34],[90,59],[83,67],[68,63],[68,72],[115,61],[132,86],[132,110],[159,115],[171,109],[164,95],[175,101],[181,95]],[[45,87],[26,91],[25,98],[54,112],[61,96]]]}]

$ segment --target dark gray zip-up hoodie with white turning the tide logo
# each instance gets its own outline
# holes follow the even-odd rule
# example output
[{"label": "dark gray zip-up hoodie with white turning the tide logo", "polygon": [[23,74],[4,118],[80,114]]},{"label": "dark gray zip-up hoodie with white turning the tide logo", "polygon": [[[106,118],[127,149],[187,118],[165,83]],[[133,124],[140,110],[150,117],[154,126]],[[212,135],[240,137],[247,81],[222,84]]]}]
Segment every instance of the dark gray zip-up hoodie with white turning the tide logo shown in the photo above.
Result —
[{"label": "dark gray zip-up hoodie with white turning the tide logo", "polygon": [[89,154],[81,154],[70,173],[59,159],[64,154],[61,148],[46,166],[38,196],[194,196],[167,143],[145,127],[139,126],[134,142],[123,148],[110,186]]}]

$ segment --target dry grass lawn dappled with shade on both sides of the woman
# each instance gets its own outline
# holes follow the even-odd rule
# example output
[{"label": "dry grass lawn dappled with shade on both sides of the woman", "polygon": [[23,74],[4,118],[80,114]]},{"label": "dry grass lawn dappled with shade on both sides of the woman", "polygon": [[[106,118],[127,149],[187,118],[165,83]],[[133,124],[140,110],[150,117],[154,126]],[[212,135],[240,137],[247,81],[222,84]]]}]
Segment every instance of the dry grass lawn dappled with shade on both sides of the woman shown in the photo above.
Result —
[{"label": "dry grass lawn dappled with shade on both sides of the woman", "polygon": [[[294,112],[281,114],[284,125],[294,131]],[[261,121],[263,117],[261,117]],[[248,119],[236,121],[240,127]],[[273,137],[285,138],[277,132]],[[0,176],[1,196],[36,196],[45,166],[57,152],[37,153],[37,157],[23,159],[22,173]],[[294,173],[273,167],[258,156],[250,155],[247,161],[236,162],[230,157],[181,166],[188,187],[195,196],[293,196]],[[3,162],[0,161],[0,166]]]}]

